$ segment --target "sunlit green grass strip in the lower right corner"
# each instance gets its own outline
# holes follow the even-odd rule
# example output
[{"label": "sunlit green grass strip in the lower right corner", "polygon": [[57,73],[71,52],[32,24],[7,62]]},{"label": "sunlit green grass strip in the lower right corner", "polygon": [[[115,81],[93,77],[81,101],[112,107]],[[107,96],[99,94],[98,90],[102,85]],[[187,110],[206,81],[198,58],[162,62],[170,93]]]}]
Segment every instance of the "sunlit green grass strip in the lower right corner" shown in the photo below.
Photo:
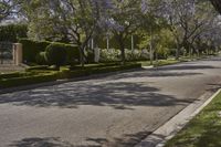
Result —
[{"label": "sunlit green grass strip in the lower right corner", "polygon": [[166,147],[221,147],[221,93]]}]

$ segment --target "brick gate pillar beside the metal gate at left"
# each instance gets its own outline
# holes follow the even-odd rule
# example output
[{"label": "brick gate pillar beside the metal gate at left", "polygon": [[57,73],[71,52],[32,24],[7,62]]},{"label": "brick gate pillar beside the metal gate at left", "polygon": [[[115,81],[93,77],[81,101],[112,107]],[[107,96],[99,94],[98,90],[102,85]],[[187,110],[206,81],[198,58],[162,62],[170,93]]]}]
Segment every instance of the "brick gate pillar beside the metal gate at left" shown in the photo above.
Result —
[{"label": "brick gate pillar beside the metal gate at left", "polygon": [[21,43],[14,43],[13,44],[13,61],[14,61],[15,65],[20,65],[23,61],[22,44]]}]

